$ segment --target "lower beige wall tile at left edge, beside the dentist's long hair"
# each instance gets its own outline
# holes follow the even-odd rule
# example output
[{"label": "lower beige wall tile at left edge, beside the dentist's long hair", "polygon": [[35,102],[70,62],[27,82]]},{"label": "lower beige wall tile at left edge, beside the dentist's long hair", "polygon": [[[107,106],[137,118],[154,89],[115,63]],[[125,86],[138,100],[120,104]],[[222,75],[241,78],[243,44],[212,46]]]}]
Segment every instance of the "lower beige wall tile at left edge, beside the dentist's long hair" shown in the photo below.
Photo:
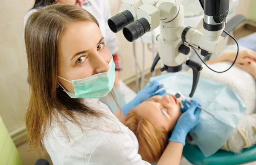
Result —
[{"label": "lower beige wall tile at left edge, beside the dentist's long hair", "polygon": [[0,115],[10,131],[24,125],[29,103],[27,68],[0,78]]}]

